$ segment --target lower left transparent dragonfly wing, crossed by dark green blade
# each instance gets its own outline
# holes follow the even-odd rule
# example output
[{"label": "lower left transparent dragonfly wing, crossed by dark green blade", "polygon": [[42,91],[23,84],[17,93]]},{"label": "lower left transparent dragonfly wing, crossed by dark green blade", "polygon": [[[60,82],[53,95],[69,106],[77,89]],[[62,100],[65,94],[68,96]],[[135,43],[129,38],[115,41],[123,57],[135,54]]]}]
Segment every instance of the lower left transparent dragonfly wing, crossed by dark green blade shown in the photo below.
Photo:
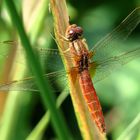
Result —
[{"label": "lower left transparent dragonfly wing, crossed by dark green blade", "polygon": [[[64,70],[56,71],[43,75],[44,79],[48,79],[52,86],[55,84],[63,84],[62,87],[66,86],[66,73]],[[57,82],[57,83],[56,83]],[[65,84],[65,85],[64,85]],[[56,87],[55,87],[56,88]],[[0,84],[0,91],[32,91],[39,92],[36,86],[35,78],[28,77],[23,80],[14,80],[8,83]],[[58,89],[55,89],[58,91]]]}]

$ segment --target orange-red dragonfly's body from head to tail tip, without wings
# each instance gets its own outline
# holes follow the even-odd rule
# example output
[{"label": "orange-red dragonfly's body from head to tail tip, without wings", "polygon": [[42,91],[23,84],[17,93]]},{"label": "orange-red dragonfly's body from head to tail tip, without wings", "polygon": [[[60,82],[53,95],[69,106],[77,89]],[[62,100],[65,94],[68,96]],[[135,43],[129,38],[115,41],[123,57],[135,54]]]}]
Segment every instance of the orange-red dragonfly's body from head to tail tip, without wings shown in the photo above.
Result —
[{"label": "orange-red dragonfly's body from head to tail tip, without wings", "polygon": [[82,36],[83,29],[76,24],[72,24],[67,27],[64,39],[69,42],[67,51],[71,53],[73,58],[74,67],[72,71],[75,71],[78,75],[80,89],[92,119],[95,121],[100,132],[105,133],[106,128],[102,108],[89,73],[90,65],[93,63],[90,62],[90,58],[94,55],[94,52],[88,50],[86,41]]}]

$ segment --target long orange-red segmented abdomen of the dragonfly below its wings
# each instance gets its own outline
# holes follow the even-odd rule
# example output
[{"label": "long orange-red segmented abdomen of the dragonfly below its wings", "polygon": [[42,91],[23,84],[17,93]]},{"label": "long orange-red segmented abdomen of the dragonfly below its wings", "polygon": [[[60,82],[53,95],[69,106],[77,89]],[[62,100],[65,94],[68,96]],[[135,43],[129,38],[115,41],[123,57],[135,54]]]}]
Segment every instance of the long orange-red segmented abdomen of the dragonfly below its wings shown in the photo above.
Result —
[{"label": "long orange-red segmented abdomen of the dragonfly below its wings", "polygon": [[79,83],[92,119],[95,121],[99,130],[105,133],[106,128],[102,108],[88,70],[84,70],[79,74]]}]

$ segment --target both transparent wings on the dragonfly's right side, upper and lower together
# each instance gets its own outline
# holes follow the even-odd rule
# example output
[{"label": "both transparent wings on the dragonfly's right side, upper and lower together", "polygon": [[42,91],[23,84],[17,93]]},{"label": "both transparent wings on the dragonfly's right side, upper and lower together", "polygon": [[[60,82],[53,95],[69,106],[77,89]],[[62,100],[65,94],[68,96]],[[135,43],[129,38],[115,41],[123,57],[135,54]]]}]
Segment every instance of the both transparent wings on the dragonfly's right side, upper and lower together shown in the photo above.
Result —
[{"label": "both transparent wings on the dragonfly's right side, upper and lower together", "polygon": [[[100,81],[113,70],[140,56],[139,39],[127,39],[140,23],[140,8],[132,11],[111,33],[93,47],[91,73]],[[127,39],[127,40],[126,40]]]}]

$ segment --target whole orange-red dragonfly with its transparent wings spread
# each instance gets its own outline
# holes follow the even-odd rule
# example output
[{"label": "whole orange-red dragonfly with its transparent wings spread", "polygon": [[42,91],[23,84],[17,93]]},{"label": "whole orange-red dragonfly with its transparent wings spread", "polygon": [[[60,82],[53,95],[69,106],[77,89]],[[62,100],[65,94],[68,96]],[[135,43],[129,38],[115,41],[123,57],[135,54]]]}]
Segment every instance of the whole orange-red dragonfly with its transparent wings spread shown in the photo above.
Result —
[{"label": "whole orange-red dragonfly with its transparent wings spread", "polygon": [[[107,77],[113,70],[140,56],[140,45],[137,43],[129,47],[126,42],[128,36],[139,23],[140,8],[136,8],[111,33],[97,42],[91,50],[87,49],[87,43],[83,38],[83,29],[76,24],[68,26],[66,35],[63,37],[64,41],[67,41],[76,49],[69,49],[68,52],[73,54],[74,68],[78,73],[77,77],[79,77],[78,81],[81,84],[81,91],[89,112],[91,112],[91,116],[101,133],[105,133],[106,131],[105,122],[102,108],[90,77],[94,75],[93,83],[95,84]],[[83,53],[80,52],[83,50],[83,47],[81,49],[79,46],[84,46]],[[50,51],[57,52],[57,50],[52,49]],[[63,53],[62,55],[69,57],[67,53]],[[47,73],[43,76],[51,79],[52,77],[64,76],[66,74],[67,72],[65,73],[64,70],[60,70]],[[23,80],[14,80],[6,84],[1,84],[0,90],[38,91],[34,84],[34,78],[29,77]]]}]

